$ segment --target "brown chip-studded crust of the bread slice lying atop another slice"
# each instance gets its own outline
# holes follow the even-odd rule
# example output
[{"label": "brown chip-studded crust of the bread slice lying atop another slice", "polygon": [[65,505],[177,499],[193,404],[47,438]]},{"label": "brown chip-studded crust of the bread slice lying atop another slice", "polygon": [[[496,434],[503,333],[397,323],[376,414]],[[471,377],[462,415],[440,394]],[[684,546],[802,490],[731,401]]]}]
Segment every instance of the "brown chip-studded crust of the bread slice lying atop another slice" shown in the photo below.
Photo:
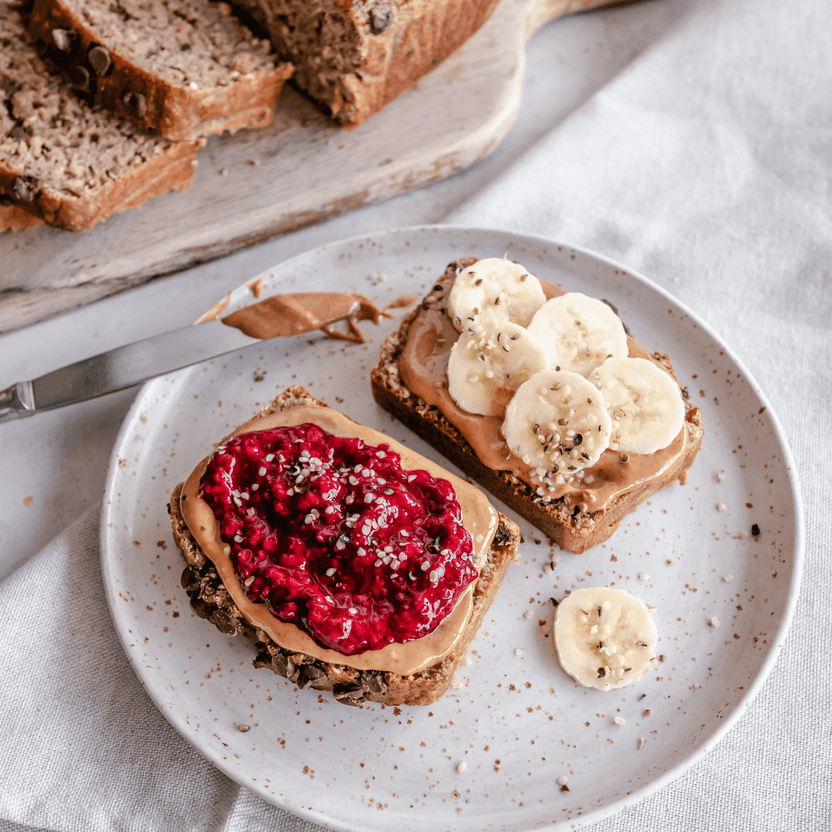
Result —
[{"label": "brown chip-studded crust of the bread slice lying atop another slice", "polygon": [[[194,90],[172,84],[136,64],[62,0],[35,0],[28,27],[47,45],[54,44],[55,30],[77,38],[72,58],[58,49],[50,49],[50,55],[56,62],[76,71],[80,67],[86,73],[88,94],[95,103],[172,141],[234,133],[242,127],[267,127],[283,82],[293,71],[291,64],[281,63],[266,75],[244,75],[227,86]],[[105,47],[112,61],[104,74],[95,72],[88,60],[96,46]]]}]

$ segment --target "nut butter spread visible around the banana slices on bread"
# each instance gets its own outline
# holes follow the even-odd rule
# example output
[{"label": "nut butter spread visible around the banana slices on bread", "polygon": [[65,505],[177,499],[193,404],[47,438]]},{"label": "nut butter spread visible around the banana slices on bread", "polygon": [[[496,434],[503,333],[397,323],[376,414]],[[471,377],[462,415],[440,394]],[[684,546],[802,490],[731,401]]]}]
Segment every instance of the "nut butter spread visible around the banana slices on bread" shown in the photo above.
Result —
[{"label": "nut butter spread visible around the banana slices on bread", "polygon": [[[547,299],[564,294],[558,286],[544,281],[541,285]],[[509,471],[536,489],[539,483],[533,480],[532,468],[511,451],[503,438],[503,417],[469,413],[448,392],[448,358],[459,338],[445,311],[449,288],[450,284],[442,285],[432,292],[411,323],[399,358],[402,381],[412,393],[442,412],[485,465],[493,470]],[[631,358],[653,360],[632,337],[627,337],[627,344]],[[622,454],[607,449],[590,468],[575,476],[559,477],[555,490],[548,491],[544,500],[566,497],[582,511],[599,511],[611,500],[679,468],[685,460],[687,442],[688,432],[683,426],[670,445],[653,454]]]}]

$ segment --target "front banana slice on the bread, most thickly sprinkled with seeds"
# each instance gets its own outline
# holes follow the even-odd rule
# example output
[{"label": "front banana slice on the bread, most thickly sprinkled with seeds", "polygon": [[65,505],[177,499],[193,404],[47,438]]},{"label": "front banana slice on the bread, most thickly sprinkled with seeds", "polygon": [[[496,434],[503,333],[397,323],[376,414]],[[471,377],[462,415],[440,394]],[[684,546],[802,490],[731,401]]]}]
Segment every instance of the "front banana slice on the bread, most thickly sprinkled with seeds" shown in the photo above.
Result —
[{"label": "front banana slice on the bread, most thickly sprinkled with seeds", "polygon": [[583,376],[563,370],[538,373],[522,384],[503,421],[506,444],[537,468],[541,480],[594,465],[609,446],[611,430],[603,397]]}]

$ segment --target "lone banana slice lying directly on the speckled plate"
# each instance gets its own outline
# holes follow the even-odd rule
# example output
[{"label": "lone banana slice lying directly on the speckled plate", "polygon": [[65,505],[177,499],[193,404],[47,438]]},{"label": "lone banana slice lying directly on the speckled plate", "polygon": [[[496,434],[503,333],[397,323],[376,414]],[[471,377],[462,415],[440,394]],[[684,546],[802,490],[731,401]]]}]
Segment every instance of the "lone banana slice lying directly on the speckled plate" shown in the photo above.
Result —
[{"label": "lone banana slice lying directly on the speckled plate", "polygon": [[644,601],[623,589],[576,589],[552,616],[561,667],[584,687],[623,688],[656,657],[656,625]]}]

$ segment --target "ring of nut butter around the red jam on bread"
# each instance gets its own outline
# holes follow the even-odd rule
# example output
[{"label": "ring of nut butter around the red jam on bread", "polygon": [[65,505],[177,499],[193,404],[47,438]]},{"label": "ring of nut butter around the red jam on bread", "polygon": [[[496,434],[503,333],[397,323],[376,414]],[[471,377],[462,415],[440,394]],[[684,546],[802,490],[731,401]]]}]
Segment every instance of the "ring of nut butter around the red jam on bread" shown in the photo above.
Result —
[{"label": "ring of nut butter around the red jam on bread", "polygon": [[[449,481],[462,509],[464,526],[474,542],[475,562],[486,562],[487,552],[497,530],[498,517],[485,495],[430,460],[377,431],[356,424],[337,411],[319,406],[299,406],[247,422],[234,431],[232,436],[307,422],[336,436],[359,437],[370,445],[387,444],[391,450],[400,454],[403,469],[424,470],[431,476]],[[358,670],[391,671],[400,676],[418,673],[437,664],[453,651],[471,617],[474,584],[465,590],[450,615],[430,635],[353,656],[345,656],[319,646],[300,627],[275,618],[265,604],[250,601],[243,592],[228,557],[228,547],[220,536],[219,523],[208,504],[199,497],[200,478],[206,462],[203,460],[196,467],[182,489],[182,516],[197,543],[214,563],[234,603],[252,626],[263,630],[274,642],[291,652],[306,653],[324,662],[347,665]]]}]

